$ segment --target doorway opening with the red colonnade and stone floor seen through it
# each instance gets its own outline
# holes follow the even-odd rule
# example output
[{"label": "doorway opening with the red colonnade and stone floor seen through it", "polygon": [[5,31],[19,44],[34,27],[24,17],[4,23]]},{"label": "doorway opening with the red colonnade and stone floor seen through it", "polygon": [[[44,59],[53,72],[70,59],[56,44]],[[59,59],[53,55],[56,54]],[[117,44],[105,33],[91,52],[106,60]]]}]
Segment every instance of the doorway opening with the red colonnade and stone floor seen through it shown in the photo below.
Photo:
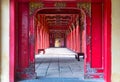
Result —
[{"label": "doorway opening with the red colonnade and stone floor seen through it", "polygon": [[[84,29],[80,28],[80,10],[73,10],[74,12],[77,11],[77,13],[74,13],[67,9],[72,13],[64,13],[65,9],[59,9],[61,14],[57,13],[57,9],[52,10],[54,12],[47,14],[46,12],[41,14],[40,10],[34,15],[36,18],[34,20],[34,34],[37,76],[83,79],[84,60],[81,57],[80,61],[75,59],[75,55],[85,51],[85,44],[83,44],[85,40],[82,40],[84,38],[81,37],[83,34],[85,36],[85,33],[83,32]],[[42,11],[51,10],[44,9]],[[82,19],[84,20],[84,17]],[[38,53],[39,49],[44,49],[45,54]]]}]

